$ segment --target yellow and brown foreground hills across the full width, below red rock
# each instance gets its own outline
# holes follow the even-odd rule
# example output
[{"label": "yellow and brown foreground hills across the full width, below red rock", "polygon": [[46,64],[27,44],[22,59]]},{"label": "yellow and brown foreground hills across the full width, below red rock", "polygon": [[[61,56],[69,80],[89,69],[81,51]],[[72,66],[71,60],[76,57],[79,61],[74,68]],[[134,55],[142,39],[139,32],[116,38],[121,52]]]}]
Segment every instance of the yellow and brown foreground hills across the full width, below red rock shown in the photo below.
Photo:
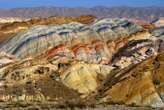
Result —
[{"label": "yellow and brown foreground hills across the full width, below red rock", "polygon": [[163,54],[124,69],[57,56],[17,61],[0,69],[0,99],[163,107],[163,62]]}]

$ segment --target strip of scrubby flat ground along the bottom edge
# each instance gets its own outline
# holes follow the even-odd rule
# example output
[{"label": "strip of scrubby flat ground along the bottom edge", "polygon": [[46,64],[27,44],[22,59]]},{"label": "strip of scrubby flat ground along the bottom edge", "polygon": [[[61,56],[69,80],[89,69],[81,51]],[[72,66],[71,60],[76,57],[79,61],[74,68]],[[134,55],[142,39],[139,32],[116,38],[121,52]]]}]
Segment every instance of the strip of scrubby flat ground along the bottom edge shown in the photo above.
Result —
[{"label": "strip of scrubby flat ground along the bottom edge", "polygon": [[164,108],[127,107],[124,105],[97,105],[71,107],[52,103],[0,103],[0,110],[164,110]]}]

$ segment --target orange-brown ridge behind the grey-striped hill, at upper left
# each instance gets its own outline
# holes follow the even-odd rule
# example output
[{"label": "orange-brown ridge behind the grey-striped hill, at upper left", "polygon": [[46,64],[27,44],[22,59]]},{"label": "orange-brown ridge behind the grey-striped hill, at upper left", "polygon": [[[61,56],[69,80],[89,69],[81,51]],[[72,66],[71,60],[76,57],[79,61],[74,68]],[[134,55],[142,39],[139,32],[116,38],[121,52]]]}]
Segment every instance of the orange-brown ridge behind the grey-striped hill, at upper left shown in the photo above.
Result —
[{"label": "orange-brown ridge behind the grey-striped hill, at upper left", "polygon": [[12,37],[15,33],[27,30],[33,25],[64,24],[70,22],[90,23],[95,19],[94,16],[64,17],[52,16],[48,18],[32,18],[22,22],[0,24],[0,42]]}]

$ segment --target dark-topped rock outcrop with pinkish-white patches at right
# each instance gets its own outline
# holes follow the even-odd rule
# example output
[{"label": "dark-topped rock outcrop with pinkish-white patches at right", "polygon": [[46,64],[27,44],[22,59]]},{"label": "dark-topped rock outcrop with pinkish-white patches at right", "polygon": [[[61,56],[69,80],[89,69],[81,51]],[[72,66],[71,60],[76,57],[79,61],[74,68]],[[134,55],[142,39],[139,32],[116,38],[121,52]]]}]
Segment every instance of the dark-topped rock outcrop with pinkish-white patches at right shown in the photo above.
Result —
[{"label": "dark-topped rock outcrop with pinkish-white patches at right", "polygon": [[119,67],[137,64],[158,53],[159,43],[150,39],[129,41],[113,55],[112,63]]}]

